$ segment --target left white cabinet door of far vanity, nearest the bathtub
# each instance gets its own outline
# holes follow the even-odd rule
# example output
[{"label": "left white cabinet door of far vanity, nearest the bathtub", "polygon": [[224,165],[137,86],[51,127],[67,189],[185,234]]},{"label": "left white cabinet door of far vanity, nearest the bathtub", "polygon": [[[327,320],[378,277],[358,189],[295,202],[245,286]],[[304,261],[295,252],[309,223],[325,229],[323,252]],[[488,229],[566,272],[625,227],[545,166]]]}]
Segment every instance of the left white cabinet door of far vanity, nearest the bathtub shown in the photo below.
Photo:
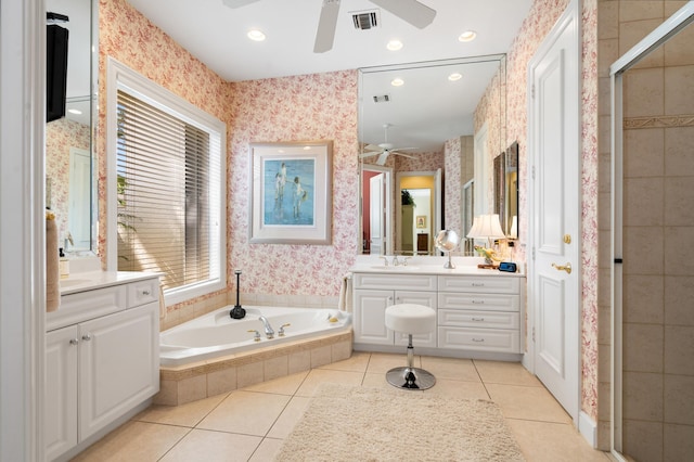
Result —
[{"label": "left white cabinet door of far vanity, nearest the bathtub", "polygon": [[393,291],[355,291],[355,343],[393,345],[393,331],[386,329],[393,295]]}]

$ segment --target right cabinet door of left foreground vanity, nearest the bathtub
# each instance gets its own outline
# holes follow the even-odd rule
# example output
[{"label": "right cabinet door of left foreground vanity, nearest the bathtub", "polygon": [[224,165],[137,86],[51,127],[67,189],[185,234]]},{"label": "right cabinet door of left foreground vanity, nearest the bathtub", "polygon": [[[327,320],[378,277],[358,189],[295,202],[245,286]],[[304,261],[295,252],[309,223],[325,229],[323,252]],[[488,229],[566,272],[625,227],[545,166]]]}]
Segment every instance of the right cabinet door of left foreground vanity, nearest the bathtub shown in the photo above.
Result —
[{"label": "right cabinet door of left foreground vanity, nearest the bathtub", "polygon": [[83,439],[158,392],[158,304],[85,322],[79,334],[79,436]]}]

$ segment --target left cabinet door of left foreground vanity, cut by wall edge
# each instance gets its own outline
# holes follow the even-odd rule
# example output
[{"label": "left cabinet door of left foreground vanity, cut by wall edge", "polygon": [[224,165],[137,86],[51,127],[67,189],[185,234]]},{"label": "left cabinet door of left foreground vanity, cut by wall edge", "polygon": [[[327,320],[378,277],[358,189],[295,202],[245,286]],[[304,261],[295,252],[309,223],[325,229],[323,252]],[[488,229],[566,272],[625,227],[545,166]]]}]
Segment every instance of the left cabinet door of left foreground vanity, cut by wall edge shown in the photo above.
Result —
[{"label": "left cabinet door of left foreground vanity, cut by wall edge", "polygon": [[46,334],[46,460],[53,460],[77,445],[78,344],[76,325]]}]

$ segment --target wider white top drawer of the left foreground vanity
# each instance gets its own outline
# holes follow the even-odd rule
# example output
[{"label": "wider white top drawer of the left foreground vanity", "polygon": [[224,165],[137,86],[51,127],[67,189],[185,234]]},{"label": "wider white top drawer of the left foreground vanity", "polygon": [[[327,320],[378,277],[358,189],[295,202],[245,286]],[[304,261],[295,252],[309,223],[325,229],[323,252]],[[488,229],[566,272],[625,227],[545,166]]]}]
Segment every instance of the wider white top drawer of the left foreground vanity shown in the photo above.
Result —
[{"label": "wider white top drawer of the left foreground vanity", "polygon": [[126,306],[125,285],[63,295],[60,308],[46,315],[46,331],[121,311]]}]

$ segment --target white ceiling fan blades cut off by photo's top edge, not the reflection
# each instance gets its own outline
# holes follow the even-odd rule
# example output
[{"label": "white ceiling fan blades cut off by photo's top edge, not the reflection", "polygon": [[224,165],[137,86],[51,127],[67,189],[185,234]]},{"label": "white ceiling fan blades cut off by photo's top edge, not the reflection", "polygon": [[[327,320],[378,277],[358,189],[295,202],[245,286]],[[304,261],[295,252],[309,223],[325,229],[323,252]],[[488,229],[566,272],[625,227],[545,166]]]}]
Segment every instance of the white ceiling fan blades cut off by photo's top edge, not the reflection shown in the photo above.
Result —
[{"label": "white ceiling fan blades cut off by photo's top edge, not the reflection", "polygon": [[[257,1],[259,0],[222,0],[229,8],[241,8]],[[432,24],[436,16],[436,10],[428,8],[417,0],[370,1],[420,29]],[[318,30],[316,31],[316,42],[313,44],[314,53],[323,53],[333,48],[339,2],[340,0],[323,0],[321,16],[318,22]]]}]

